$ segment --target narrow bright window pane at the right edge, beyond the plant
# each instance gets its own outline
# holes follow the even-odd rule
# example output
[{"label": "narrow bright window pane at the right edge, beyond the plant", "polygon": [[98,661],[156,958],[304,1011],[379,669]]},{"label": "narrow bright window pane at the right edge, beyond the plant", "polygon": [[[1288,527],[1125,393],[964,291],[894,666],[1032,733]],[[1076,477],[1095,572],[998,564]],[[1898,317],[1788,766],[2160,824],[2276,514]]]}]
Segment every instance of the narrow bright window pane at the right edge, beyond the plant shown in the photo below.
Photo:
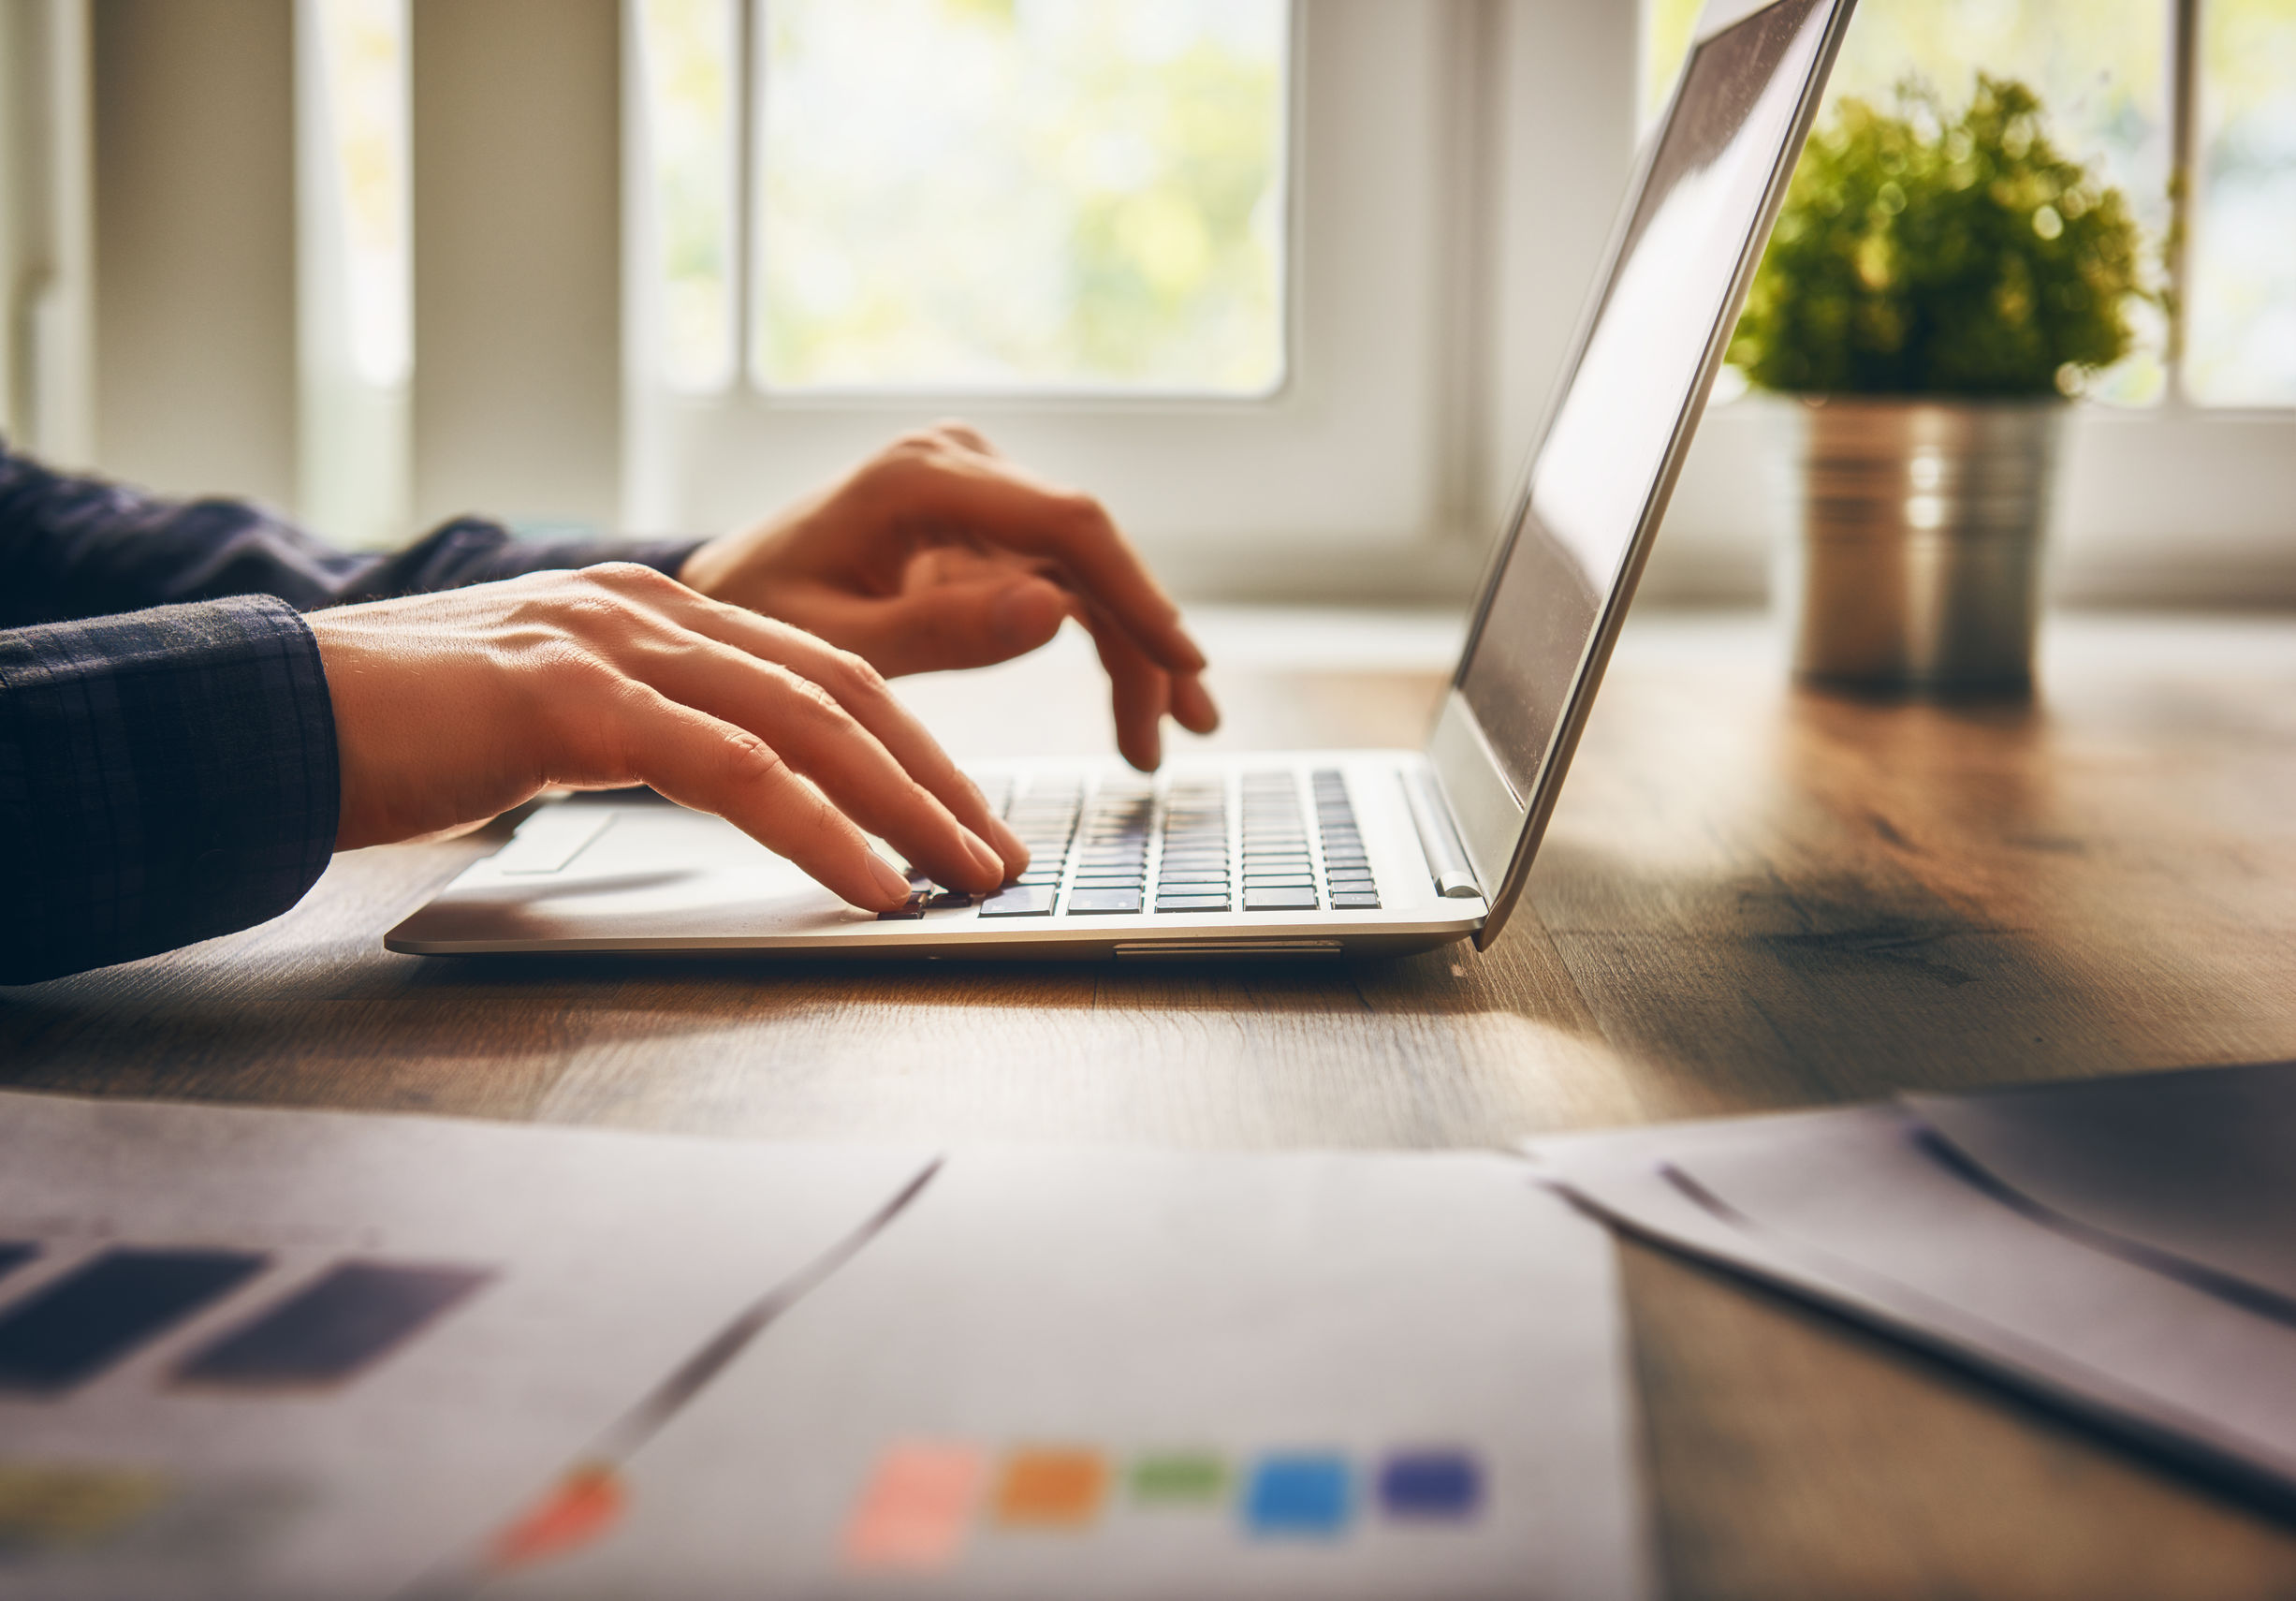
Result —
[{"label": "narrow bright window pane at the right edge, beyond the plant", "polygon": [[2211,0],[2200,71],[2186,386],[2296,404],[2296,0]]}]

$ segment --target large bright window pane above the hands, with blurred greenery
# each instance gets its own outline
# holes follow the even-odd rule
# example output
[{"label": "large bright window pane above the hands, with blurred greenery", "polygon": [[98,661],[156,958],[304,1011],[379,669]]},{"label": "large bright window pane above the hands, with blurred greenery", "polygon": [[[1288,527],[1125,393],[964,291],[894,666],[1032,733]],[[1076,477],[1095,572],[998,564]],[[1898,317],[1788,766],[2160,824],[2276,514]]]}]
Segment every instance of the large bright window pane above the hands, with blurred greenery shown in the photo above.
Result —
[{"label": "large bright window pane above the hands, with blurred greenery", "polygon": [[1286,0],[762,18],[760,384],[1281,384]]}]

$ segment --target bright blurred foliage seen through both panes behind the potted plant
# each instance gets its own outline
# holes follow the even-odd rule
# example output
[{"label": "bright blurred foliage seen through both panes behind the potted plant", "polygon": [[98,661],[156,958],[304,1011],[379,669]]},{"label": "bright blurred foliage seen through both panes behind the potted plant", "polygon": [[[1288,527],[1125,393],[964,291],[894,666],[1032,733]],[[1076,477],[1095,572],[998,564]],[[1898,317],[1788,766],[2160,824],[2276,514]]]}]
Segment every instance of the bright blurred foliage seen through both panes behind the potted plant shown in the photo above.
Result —
[{"label": "bright blurred foliage seen through both panes behind the potted plant", "polygon": [[[1887,103],[1908,78],[1963,103],[1979,71],[2032,85],[2050,138],[2167,239],[2174,0],[1862,0],[1828,87]],[[1690,48],[1701,0],[1644,0],[1644,126]],[[2296,0],[2202,0],[2202,152],[2188,214],[2186,393],[2296,404]],[[2124,407],[2167,388],[2167,326],[2128,308],[2135,345],[2087,395]]]}]

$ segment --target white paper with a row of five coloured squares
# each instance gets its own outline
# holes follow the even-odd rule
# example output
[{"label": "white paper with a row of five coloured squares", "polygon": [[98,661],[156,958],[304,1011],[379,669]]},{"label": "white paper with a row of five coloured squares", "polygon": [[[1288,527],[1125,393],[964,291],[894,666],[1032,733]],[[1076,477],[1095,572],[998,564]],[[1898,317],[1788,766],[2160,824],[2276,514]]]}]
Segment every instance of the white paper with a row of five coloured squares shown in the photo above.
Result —
[{"label": "white paper with a row of five coloured squares", "polygon": [[[595,1550],[487,1596],[1635,1596],[1614,1259],[1495,1155],[957,1153],[836,1279],[629,1463]],[[889,1449],[980,1459],[944,1560],[850,1532]],[[1097,1459],[1075,1527],[1006,1527],[1015,1452]],[[1228,1493],[1148,1507],[1125,1472],[1201,1452]],[[1396,1518],[1398,1449],[1463,1449],[1472,1518]],[[1350,1465],[1329,1537],[1254,1532],[1270,1452]]]}]

